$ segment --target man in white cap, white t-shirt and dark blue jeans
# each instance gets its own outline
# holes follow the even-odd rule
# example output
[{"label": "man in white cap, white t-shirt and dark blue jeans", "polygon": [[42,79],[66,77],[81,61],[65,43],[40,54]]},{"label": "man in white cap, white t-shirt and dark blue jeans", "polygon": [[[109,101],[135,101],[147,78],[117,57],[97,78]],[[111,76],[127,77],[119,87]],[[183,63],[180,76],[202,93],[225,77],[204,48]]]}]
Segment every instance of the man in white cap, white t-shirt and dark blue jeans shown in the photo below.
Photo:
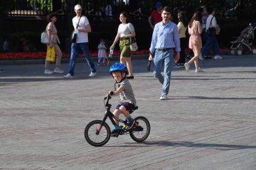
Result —
[{"label": "man in white cap, white t-shirt and dark blue jeans", "polygon": [[96,76],[96,68],[93,64],[92,58],[90,58],[89,53],[89,40],[88,33],[92,32],[89,20],[86,16],[82,16],[82,7],[81,5],[75,5],[76,16],[73,17],[72,23],[73,28],[76,34],[76,41],[71,44],[71,56],[69,61],[69,71],[66,76],[63,76],[66,79],[70,79],[74,75],[75,62],[80,50],[83,52],[84,58],[86,58],[87,64],[90,67],[89,77]]}]

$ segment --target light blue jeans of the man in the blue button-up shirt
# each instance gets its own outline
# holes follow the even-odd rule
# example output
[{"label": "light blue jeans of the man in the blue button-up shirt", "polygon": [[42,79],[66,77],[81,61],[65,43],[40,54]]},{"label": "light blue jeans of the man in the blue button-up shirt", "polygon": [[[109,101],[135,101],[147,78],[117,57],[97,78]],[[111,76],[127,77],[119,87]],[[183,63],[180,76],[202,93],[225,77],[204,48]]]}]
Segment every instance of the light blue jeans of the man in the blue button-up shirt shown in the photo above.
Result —
[{"label": "light blue jeans of the man in the blue button-up shirt", "polygon": [[[169,50],[155,50],[154,58],[154,74],[160,83],[163,84],[162,94],[169,93],[170,88],[170,73],[173,65],[173,49]],[[164,76],[161,74],[161,68],[164,64]]]}]

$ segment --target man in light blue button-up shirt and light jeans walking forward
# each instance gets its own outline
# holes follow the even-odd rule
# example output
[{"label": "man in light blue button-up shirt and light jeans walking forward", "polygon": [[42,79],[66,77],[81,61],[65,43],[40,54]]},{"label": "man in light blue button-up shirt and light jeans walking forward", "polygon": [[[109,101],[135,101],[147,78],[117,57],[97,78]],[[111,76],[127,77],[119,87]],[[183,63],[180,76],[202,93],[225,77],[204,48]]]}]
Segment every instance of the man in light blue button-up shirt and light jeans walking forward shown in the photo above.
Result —
[{"label": "man in light blue button-up shirt and light jeans walking forward", "polygon": [[[170,21],[170,8],[164,7],[161,12],[162,22],[155,25],[151,47],[149,48],[149,60],[152,59],[152,53],[155,52],[154,74],[160,83],[163,84],[160,100],[166,100],[170,87],[170,73],[173,65],[173,49],[176,51],[174,61],[180,59],[180,38],[178,27]],[[161,74],[161,67],[164,64],[164,76]]]}]

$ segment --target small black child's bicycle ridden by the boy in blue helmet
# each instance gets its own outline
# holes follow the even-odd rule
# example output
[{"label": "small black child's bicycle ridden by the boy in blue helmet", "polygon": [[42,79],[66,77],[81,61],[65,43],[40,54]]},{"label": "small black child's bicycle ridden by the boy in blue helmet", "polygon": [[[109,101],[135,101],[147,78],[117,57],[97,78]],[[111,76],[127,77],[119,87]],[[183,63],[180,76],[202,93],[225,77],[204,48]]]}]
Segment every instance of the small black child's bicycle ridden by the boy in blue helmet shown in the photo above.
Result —
[{"label": "small black child's bicycle ridden by the boy in blue helmet", "polygon": [[[108,103],[110,99],[111,96],[109,94],[104,98],[104,101],[107,100],[107,103],[105,103],[106,112],[103,120],[91,121],[89,124],[87,124],[86,129],[84,129],[84,137],[86,138],[86,141],[95,147],[101,147],[102,145],[107,144],[111,133],[110,127],[107,123],[105,123],[107,118],[110,118],[112,124],[115,124],[114,119],[123,123],[123,126],[119,126],[116,138],[119,135],[125,135],[129,133],[134,141],[145,141],[150,133],[149,121],[145,117],[136,117],[134,118],[134,126],[130,130],[126,130],[127,120],[121,120],[120,118],[117,118],[110,111],[111,105]],[[138,109],[137,106],[133,110],[129,111],[130,114],[133,113],[136,109]]]}]

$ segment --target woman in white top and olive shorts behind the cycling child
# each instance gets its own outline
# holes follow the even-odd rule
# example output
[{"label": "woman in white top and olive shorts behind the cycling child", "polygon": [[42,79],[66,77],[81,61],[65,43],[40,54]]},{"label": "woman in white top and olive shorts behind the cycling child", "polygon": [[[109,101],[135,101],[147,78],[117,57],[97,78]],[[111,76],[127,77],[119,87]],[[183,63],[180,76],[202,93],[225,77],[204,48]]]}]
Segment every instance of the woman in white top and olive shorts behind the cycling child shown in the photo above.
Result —
[{"label": "woman in white top and olive shorts behind the cycling child", "polygon": [[110,47],[110,49],[114,48],[115,44],[120,38],[120,62],[126,64],[129,74],[127,79],[134,79],[133,76],[133,65],[131,64],[131,50],[130,50],[130,38],[135,37],[135,31],[133,24],[128,22],[128,14],[125,12],[120,13],[120,22],[122,22],[116,34],[116,38],[114,38],[114,43]]}]

